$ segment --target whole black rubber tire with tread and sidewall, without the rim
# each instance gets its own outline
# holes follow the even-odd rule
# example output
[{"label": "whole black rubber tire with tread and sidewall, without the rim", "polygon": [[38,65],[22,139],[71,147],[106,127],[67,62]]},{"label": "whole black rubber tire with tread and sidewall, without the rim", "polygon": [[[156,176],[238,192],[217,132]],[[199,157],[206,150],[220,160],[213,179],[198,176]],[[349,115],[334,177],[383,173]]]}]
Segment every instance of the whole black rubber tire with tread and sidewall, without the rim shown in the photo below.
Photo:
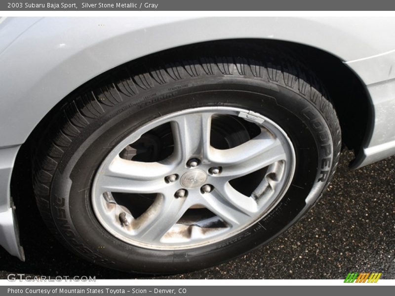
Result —
[{"label": "whole black rubber tire with tread and sidewall, without the rim", "polygon": [[[153,118],[218,105],[259,112],[290,137],[296,169],[276,207],[234,237],[194,249],[144,249],[107,232],[96,220],[89,196],[92,178],[109,151]],[[237,44],[170,51],[119,66],[73,92],[47,126],[34,166],[44,221],[84,259],[142,273],[205,268],[269,242],[320,197],[341,148],[339,122],[319,79],[284,50],[247,50]]]}]

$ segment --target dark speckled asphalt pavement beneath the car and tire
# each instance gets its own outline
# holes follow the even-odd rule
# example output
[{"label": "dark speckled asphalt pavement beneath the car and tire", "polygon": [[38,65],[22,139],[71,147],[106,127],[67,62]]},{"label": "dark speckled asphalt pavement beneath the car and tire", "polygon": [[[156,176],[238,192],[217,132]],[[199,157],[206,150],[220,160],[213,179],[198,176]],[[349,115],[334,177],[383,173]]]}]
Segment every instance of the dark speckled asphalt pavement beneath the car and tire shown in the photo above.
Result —
[{"label": "dark speckled asphalt pavement beneath the car and tire", "polygon": [[[395,279],[395,157],[356,171],[347,167],[351,157],[342,153],[337,174],[316,206],[268,245],[219,266],[155,278],[342,279],[353,271]],[[17,187],[26,262],[0,248],[0,278],[8,273],[152,278],[98,267],[68,252],[40,220],[31,183]]]}]

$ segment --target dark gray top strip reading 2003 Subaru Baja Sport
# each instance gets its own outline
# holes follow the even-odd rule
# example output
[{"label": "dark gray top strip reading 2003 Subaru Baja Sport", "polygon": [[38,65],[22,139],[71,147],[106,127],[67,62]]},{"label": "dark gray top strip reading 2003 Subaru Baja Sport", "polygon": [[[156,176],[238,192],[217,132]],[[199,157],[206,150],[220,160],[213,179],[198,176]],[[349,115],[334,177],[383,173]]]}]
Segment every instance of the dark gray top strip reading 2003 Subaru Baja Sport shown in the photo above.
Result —
[{"label": "dark gray top strip reading 2003 Subaru Baja Sport", "polygon": [[388,0],[30,0],[0,2],[4,11],[312,11],[312,10],[394,10]]}]

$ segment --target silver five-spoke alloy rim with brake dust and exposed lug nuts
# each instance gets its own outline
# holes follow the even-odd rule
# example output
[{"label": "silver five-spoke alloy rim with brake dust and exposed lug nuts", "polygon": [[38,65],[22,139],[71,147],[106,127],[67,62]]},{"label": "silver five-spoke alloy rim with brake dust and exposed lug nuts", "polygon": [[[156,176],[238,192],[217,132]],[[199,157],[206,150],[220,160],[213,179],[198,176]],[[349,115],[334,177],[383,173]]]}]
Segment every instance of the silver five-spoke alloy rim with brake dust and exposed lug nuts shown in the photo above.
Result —
[{"label": "silver five-spoke alloy rim with brake dust and exposed lug nuts", "polygon": [[[246,138],[225,149],[215,148],[212,125],[229,120],[237,120]],[[255,134],[249,139],[245,129],[251,122]],[[158,149],[133,147],[166,124],[172,152],[160,161],[153,153],[144,161],[134,160],[147,149]],[[169,133],[161,130],[159,136]],[[227,142],[236,132],[215,136]],[[128,158],[122,158],[125,148]],[[147,123],[110,152],[93,182],[93,209],[100,223],[127,243],[153,249],[192,248],[230,237],[262,218],[287,189],[294,165],[289,138],[261,114],[225,107],[179,111]],[[237,182],[241,178],[242,185]],[[150,198],[152,203],[144,200],[144,211],[136,213],[133,207],[144,208],[140,200]]]}]

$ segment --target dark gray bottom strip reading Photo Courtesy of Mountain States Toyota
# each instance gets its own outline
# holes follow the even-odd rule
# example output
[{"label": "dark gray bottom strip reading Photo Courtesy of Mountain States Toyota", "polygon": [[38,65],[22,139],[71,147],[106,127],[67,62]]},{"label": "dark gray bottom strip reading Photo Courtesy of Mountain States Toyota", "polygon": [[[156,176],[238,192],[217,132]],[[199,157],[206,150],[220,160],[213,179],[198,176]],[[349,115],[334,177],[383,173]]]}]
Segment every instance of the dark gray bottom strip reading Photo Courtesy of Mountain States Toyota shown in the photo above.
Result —
[{"label": "dark gray bottom strip reading Photo Courtesy of Mountain States Toyota", "polygon": [[344,286],[13,286],[0,287],[2,296],[209,296],[209,295],[306,295],[332,296],[350,293],[363,296],[392,295],[394,287],[372,285]]}]

